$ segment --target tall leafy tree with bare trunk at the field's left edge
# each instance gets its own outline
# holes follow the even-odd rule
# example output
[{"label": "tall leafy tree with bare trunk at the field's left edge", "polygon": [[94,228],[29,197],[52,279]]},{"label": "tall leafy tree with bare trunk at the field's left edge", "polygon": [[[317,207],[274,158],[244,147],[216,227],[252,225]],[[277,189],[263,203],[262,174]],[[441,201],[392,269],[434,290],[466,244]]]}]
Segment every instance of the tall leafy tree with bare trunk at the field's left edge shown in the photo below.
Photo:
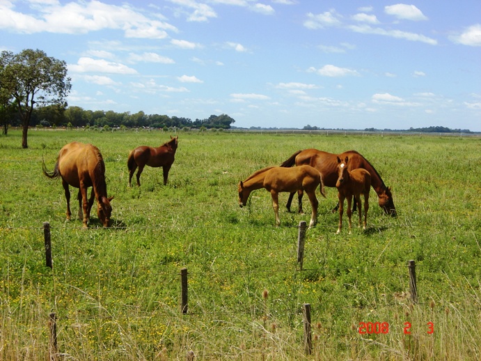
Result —
[{"label": "tall leafy tree with bare trunk at the field's left edge", "polygon": [[34,107],[61,105],[72,84],[65,61],[47,56],[42,50],[24,49],[19,54],[1,52],[1,86],[15,104],[22,119],[22,148],[28,148],[27,133]]}]

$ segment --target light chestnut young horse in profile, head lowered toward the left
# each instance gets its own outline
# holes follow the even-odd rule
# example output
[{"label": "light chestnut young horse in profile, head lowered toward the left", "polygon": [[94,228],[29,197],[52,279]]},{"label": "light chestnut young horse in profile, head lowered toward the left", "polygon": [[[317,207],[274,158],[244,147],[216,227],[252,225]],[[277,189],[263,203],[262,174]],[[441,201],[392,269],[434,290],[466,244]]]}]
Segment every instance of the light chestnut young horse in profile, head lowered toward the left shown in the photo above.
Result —
[{"label": "light chestnut young horse in profile, head lowered toward the left", "polygon": [[246,205],[249,194],[253,190],[265,188],[271,193],[272,207],[274,208],[276,225],[278,226],[281,224],[278,193],[304,190],[308,194],[310,205],[312,206],[309,223],[309,227],[311,227],[317,222],[317,206],[319,202],[315,197],[315,190],[319,185],[322,196],[326,197],[320,172],[309,165],[294,168],[267,167],[255,171],[249,178],[239,183],[239,206]]}]

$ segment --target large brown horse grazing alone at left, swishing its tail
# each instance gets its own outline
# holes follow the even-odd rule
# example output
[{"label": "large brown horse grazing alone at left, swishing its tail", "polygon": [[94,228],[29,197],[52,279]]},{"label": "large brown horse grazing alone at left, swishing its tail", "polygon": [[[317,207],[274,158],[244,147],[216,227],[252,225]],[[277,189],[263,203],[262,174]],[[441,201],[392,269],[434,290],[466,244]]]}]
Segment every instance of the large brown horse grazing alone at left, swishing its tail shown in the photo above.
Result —
[{"label": "large brown horse grazing alone at left, swishing its tail", "polygon": [[[93,197],[97,199],[97,215],[104,227],[109,226],[112,207],[107,197],[107,184],[105,183],[105,164],[99,149],[92,144],[82,144],[74,141],[66,144],[58,153],[54,171],[47,171],[45,162],[42,171],[49,178],[62,178],[65,199],[67,199],[67,220],[70,220],[70,190],[69,185],[79,188],[79,218],[84,221],[84,228],[90,221],[90,209]],[[88,187],[93,187],[90,199],[87,201]],[[83,215],[82,215],[82,210]]]}]

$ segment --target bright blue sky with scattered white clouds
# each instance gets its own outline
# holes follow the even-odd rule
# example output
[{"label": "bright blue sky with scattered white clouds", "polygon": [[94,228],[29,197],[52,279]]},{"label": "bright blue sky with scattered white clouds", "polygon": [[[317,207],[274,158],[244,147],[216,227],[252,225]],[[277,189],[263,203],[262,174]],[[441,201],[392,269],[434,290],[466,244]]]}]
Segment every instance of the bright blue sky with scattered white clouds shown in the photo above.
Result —
[{"label": "bright blue sky with scattered white clouds", "polygon": [[241,128],[481,131],[481,1],[0,0],[68,105]]}]

